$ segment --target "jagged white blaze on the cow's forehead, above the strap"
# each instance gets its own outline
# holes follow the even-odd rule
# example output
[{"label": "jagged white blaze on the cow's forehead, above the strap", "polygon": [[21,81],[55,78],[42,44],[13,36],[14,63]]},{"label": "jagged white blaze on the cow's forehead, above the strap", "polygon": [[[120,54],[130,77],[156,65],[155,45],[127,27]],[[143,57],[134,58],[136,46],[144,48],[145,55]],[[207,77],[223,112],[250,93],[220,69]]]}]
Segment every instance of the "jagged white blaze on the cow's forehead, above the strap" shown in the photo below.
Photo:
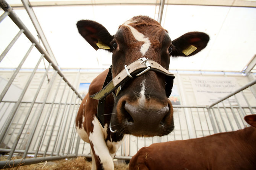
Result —
[{"label": "jagged white blaze on the cow's forehead, above the strap", "polygon": [[147,50],[149,49],[151,43],[150,43],[148,37],[145,37],[138,30],[136,30],[134,27],[129,25],[130,23],[133,23],[133,22],[135,22],[135,21],[128,20],[123,25],[130,28],[131,33],[133,34],[133,36],[136,40],[144,42],[144,44],[141,46],[141,49],[140,49],[142,56],[144,56],[146,54]]}]

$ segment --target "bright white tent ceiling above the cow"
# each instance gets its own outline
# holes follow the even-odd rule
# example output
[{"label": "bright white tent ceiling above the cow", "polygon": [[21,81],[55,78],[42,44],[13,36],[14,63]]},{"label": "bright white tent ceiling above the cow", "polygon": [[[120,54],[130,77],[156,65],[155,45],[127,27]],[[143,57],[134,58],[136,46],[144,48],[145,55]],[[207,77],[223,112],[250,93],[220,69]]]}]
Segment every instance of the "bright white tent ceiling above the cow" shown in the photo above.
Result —
[{"label": "bright white tent ceiling above the cow", "polygon": [[[22,5],[15,0],[7,2],[11,6]],[[123,4],[115,5],[118,2]],[[147,5],[143,2],[147,2]],[[40,0],[30,0],[30,3],[34,6],[34,13],[59,66],[63,69],[83,69],[109,67],[111,54],[103,50],[95,51],[85,42],[76,29],[75,24],[78,20],[95,20],[105,26],[110,34],[115,34],[118,26],[133,16],[147,15],[157,20],[160,0],[55,1],[57,6],[51,4],[52,2]],[[71,3],[73,4],[71,5]],[[82,3],[88,3],[88,5],[81,5]],[[104,5],[95,5],[97,3]],[[179,5],[173,5],[175,3]],[[169,31],[172,40],[190,31],[206,32],[211,38],[207,47],[198,55],[190,58],[171,59],[169,69],[242,71],[256,54],[256,8],[243,6],[256,6],[256,2],[247,0],[165,0],[162,26]],[[3,13],[2,10],[0,12]],[[36,37],[36,30],[26,11],[23,8],[15,8],[15,13]],[[0,42],[0,52],[18,32],[18,29],[13,28],[13,24],[8,19],[6,18],[0,24],[0,39],[4,38],[6,41]],[[4,34],[5,32],[8,34]],[[22,42],[21,44],[24,45]],[[17,48],[26,47],[19,46]],[[0,63],[0,67],[15,67],[16,61],[13,60],[15,56],[14,53],[8,54],[6,61],[10,61],[10,63],[7,65]],[[26,67],[30,67],[29,64]]]}]

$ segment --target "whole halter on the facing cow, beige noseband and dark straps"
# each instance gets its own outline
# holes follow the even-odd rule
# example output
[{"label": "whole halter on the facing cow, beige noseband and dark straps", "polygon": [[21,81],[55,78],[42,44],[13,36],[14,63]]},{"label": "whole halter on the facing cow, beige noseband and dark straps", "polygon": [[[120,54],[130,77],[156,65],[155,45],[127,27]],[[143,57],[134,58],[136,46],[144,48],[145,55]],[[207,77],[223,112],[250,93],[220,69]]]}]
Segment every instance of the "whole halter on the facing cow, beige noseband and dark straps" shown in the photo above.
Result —
[{"label": "whole halter on the facing cow, beige noseband and dark straps", "polygon": [[135,76],[142,75],[149,70],[160,72],[166,75],[165,93],[167,97],[171,95],[173,79],[175,78],[175,76],[155,61],[152,61],[146,58],[140,58],[137,61],[134,61],[133,63],[129,64],[128,66],[125,66],[125,69],[123,69],[114,78],[112,78],[112,67],[110,67],[109,73],[107,74],[102,90],[90,96],[93,99],[99,100],[98,108],[97,108],[97,118],[103,128],[105,123],[105,120],[104,120],[105,97],[118,88],[117,94],[112,93],[115,98],[115,96],[117,96],[119,91],[121,90],[121,87],[126,82],[128,82],[128,80],[133,79],[133,77]]}]

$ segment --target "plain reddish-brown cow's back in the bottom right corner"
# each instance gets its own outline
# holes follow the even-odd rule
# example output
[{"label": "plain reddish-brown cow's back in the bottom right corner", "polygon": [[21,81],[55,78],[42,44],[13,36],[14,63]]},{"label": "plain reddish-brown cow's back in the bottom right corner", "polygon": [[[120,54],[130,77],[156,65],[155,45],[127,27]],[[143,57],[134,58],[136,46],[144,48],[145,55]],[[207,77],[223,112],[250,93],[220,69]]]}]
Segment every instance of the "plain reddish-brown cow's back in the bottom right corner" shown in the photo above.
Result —
[{"label": "plain reddish-brown cow's back in the bottom right corner", "polygon": [[130,170],[255,170],[256,115],[250,127],[203,138],[152,144],[141,148]]}]

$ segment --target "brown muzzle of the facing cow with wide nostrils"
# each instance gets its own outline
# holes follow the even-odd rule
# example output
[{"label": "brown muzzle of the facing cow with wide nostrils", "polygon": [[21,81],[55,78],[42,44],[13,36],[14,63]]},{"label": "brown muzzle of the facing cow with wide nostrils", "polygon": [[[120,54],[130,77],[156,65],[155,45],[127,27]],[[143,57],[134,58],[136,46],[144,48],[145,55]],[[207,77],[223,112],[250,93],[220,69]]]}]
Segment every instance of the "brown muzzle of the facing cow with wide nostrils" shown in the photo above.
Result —
[{"label": "brown muzzle of the facing cow with wide nostrils", "polygon": [[129,102],[121,98],[117,104],[116,117],[112,117],[112,125],[118,124],[117,131],[134,136],[164,136],[172,132],[172,104],[159,104],[156,101],[144,105]]}]

